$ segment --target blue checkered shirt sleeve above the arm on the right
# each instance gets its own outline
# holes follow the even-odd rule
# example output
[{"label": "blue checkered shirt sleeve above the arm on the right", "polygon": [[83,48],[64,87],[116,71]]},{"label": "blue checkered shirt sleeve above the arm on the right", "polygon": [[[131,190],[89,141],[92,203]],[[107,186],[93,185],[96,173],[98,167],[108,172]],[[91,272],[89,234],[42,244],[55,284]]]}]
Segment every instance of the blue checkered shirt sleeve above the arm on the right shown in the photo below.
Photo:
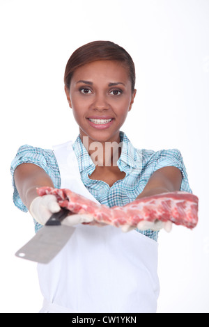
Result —
[{"label": "blue checkered shirt sleeve above the arm on the right", "polygon": [[154,171],[167,166],[177,167],[181,171],[183,177],[180,191],[192,193],[192,189],[190,189],[189,186],[187,170],[180,151],[178,149],[160,150],[156,152],[156,156]]}]

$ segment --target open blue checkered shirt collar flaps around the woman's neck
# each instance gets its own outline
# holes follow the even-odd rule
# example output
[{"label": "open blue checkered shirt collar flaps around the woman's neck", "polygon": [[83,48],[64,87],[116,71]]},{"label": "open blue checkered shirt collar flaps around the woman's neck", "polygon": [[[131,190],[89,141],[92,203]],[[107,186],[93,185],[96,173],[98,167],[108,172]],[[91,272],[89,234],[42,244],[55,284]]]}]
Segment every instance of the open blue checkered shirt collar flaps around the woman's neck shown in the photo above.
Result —
[{"label": "open blue checkered shirt collar flaps around the woman's neck", "polygon": [[[139,152],[137,152],[137,149],[134,148],[123,131],[120,131],[120,138],[123,147],[121,151],[121,157],[117,161],[118,167],[121,166],[123,168],[127,165],[133,168],[138,167],[139,163],[141,163],[141,156],[139,155]],[[77,139],[72,144],[72,147],[77,157],[80,173],[87,169],[94,170],[95,164],[91,160],[86,147],[84,147],[80,136],[77,136]]]}]

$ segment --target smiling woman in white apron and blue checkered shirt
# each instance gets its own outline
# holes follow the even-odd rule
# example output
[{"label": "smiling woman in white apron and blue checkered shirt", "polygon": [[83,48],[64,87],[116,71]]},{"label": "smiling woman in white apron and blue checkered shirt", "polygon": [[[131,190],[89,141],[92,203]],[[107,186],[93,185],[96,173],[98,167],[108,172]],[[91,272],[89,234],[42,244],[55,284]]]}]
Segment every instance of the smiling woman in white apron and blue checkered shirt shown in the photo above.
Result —
[{"label": "smiling woman in white apron and blue checkered shirt", "polygon": [[[14,202],[31,212],[36,231],[60,207],[36,188],[66,188],[107,207],[169,191],[188,191],[178,150],[138,150],[121,131],[136,95],[127,51],[113,42],[77,49],[65,68],[65,93],[79,126],[74,143],[52,150],[24,145],[12,163]],[[109,145],[113,145],[111,150]],[[38,264],[45,298],[41,312],[156,312],[157,234],[148,230],[76,223],[68,244],[52,262]]]}]

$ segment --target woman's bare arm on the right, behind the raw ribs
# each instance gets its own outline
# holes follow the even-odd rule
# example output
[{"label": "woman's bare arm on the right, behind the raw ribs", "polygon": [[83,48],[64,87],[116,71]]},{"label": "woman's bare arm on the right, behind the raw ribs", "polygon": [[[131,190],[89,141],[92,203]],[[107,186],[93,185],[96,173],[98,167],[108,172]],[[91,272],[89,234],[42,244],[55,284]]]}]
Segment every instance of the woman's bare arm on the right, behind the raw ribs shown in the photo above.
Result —
[{"label": "woman's bare arm on the right, behind the raw ribs", "polygon": [[150,177],[137,199],[144,198],[144,196],[179,191],[181,182],[182,174],[178,168],[174,166],[160,168]]}]

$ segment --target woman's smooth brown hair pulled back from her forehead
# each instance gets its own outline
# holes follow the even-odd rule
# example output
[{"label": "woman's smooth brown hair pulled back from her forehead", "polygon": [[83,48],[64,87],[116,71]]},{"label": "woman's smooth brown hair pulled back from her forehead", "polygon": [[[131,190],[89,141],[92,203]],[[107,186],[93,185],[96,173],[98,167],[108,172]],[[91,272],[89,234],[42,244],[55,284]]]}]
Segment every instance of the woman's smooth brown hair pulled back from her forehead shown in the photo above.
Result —
[{"label": "woman's smooth brown hair pulled back from her forehead", "polygon": [[85,65],[86,63],[92,63],[93,61],[109,60],[109,61],[121,61],[128,68],[130,75],[130,81],[132,83],[132,92],[134,92],[135,86],[135,67],[134,62],[130,54],[110,41],[94,41],[79,47],[70,56],[68,63],[65,67],[64,83],[67,88],[70,88],[70,81],[72,74],[75,70]]}]

